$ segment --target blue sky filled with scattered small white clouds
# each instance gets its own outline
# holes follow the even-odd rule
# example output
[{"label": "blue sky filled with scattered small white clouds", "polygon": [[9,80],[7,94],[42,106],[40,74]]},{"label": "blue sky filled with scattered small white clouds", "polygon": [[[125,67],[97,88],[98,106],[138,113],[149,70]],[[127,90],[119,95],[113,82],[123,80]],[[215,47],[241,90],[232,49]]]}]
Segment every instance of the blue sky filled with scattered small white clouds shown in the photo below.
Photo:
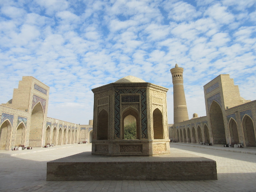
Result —
[{"label": "blue sky filled with scattered small white clouds", "polygon": [[88,124],[91,89],[132,75],[169,88],[184,68],[189,118],[205,116],[203,86],[230,74],[256,99],[255,0],[0,0],[0,103],[22,76],[50,87],[47,116]]}]

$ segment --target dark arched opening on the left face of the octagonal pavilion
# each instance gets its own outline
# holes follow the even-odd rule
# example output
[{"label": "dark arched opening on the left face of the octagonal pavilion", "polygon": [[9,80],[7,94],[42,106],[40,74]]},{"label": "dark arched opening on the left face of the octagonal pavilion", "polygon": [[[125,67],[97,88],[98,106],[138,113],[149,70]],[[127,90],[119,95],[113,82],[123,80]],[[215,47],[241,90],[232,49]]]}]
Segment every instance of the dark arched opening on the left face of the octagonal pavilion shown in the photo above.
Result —
[{"label": "dark arched opening on the left face of the octagonal pavilion", "polygon": [[105,109],[98,115],[97,140],[108,140],[108,112]]}]

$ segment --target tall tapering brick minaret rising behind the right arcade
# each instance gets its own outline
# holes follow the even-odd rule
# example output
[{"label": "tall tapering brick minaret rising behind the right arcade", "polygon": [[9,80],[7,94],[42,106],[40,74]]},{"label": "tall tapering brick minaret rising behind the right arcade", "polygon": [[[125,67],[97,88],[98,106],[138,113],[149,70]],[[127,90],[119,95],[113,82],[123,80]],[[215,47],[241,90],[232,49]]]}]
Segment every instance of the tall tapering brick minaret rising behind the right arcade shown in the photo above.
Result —
[{"label": "tall tapering brick minaret rising behind the right arcade", "polygon": [[171,69],[173,83],[174,123],[189,120],[183,87],[183,68],[177,64]]}]

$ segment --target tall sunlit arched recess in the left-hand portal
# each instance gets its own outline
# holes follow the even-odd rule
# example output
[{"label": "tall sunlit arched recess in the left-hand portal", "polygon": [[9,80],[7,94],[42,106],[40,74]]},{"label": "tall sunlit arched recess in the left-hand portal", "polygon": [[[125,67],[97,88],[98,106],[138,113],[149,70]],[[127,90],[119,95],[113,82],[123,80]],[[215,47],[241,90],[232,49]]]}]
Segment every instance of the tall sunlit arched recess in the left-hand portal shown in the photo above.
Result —
[{"label": "tall sunlit arched recess in the left-hand portal", "polygon": [[44,110],[38,102],[32,110],[29,128],[29,146],[41,147],[44,123]]}]

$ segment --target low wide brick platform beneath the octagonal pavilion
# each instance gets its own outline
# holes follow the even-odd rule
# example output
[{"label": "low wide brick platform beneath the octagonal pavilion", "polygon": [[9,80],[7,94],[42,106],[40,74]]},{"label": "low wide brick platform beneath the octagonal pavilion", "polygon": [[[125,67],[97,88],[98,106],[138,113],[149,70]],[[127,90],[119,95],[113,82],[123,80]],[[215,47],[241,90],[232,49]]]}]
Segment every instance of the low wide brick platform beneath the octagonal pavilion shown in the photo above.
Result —
[{"label": "low wide brick platform beneath the octagonal pavilion", "polygon": [[180,151],[157,157],[83,152],[48,162],[47,180],[217,180],[217,170],[214,160]]}]

